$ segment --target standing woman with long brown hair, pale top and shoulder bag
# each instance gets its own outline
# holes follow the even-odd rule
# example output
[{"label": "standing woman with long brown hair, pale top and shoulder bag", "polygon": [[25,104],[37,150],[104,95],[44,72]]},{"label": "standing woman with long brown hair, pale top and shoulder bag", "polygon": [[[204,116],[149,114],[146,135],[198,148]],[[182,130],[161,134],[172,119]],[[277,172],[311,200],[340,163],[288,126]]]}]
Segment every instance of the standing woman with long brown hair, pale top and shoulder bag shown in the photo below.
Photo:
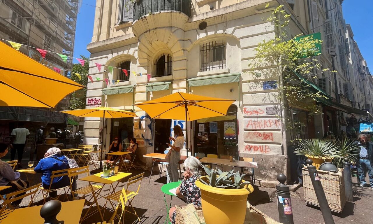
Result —
[{"label": "standing woman with long brown hair, pale top and shoulder bag", "polygon": [[167,166],[167,172],[170,177],[171,182],[175,182],[179,180],[179,161],[180,161],[180,150],[184,147],[184,133],[183,130],[179,125],[175,125],[173,127],[174,138],[170,137],[169,139],[174,141],[173,145],[167,143],[169,147],[171,147],[171,157],[170,163]]}]

